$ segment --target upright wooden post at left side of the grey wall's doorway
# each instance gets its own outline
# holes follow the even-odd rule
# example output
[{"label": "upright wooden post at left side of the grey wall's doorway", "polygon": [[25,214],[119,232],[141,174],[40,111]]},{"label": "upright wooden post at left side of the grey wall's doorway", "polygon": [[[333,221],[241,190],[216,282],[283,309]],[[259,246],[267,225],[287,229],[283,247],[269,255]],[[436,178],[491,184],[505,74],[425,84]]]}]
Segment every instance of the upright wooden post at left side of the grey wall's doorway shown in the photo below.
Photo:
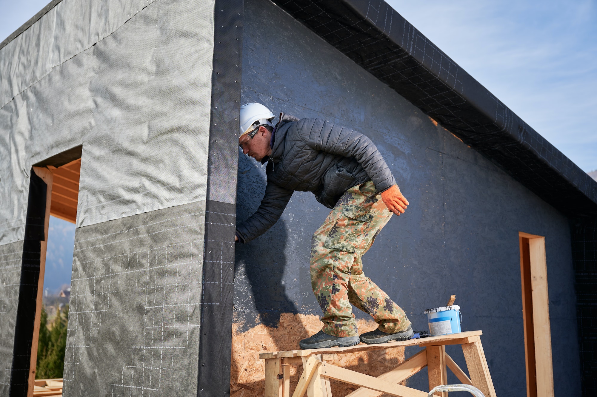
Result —
[{"label": "upright wooden post at left side of the grey wall's doorway", "polygon": [[[45,273],[45,256],[48,248],[48,228],[50,227],[50,206],[52,203],[52,172],[47,168],[33,167],[33,172],[39,178],[43,179],[47,185],[45,197],[45,219],[44,219],[44,241],[40,244],[39,255],[39,278],[38,291],[35,302],[35,320],[33,321],[33,339],[31,343],[31,356],[29,362],[29,387],[27,389],[27,397],[33,396],[33,387],[35,386],[35,367],[37,365],[37,349],[39,343],[39,327],[41,326],[41,307],[44,297],[44,273]],[[51,390],[50,390],[51,392]]]}]

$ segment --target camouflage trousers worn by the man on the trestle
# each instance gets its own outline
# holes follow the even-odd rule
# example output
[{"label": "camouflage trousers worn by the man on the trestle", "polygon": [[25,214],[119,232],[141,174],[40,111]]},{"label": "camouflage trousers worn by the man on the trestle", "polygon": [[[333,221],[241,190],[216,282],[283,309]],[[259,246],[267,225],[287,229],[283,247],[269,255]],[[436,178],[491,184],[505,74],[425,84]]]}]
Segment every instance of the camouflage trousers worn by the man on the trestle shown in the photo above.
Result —
[{"label": "camouflage trousers worn by the man on the trestle", "polygon": [[334,336],[356,336],[350,303],[379,324],[380,331],[404,331],[405,312],[363,274],[361,256],[390,220],[373,182],[350,188],[311,240],[311,286],[324,311],[322,330]]}]

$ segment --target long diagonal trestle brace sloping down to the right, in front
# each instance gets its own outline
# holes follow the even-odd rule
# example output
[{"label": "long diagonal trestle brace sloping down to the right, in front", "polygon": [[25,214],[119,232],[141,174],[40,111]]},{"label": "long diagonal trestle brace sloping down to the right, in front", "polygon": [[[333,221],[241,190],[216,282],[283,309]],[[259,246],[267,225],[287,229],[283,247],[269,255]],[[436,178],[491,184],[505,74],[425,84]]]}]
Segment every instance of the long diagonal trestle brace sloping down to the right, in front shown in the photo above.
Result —
[{"label": "long diagonal trestle brace sloping down to the right, in front", "polygon": [[427,393],[421,392],[421,390],[411,389],[411,387],[402,386],[401,384],[392,384],[373,376],[336,367],[336,365],[328,364],[327,362],[321,364],[321,374],[330,379],[340,380],[340,382],[354,384],[355,386],[367,387],[368,389],[392,396],[427,397]]}]

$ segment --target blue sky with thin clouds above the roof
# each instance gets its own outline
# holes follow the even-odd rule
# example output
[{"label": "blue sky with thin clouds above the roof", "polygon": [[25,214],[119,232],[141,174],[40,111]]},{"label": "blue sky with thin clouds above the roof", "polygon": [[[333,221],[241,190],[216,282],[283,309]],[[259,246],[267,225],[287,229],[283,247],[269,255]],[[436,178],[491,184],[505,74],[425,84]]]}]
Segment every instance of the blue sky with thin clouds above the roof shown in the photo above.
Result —
[{"label": "blue sky with thin clouds above the roof", "polygon": [[[581,169],[597,169],[595,0],[388,2]],[[0,0],[0,40],[46,4]]]}]

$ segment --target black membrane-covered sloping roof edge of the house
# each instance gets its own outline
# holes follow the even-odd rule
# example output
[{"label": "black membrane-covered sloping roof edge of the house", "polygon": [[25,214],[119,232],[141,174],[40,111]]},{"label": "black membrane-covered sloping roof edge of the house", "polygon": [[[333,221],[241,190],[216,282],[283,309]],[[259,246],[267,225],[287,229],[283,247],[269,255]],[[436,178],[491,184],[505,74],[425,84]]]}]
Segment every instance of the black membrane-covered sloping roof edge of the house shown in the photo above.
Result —
[{"label": "black membrane-covered sloping roof edge of the house", "polygon": [[[0,48],[60,1],[51,1]],[[383,0],[275,3],[556,209],[597,215],[597,182]]]}]

